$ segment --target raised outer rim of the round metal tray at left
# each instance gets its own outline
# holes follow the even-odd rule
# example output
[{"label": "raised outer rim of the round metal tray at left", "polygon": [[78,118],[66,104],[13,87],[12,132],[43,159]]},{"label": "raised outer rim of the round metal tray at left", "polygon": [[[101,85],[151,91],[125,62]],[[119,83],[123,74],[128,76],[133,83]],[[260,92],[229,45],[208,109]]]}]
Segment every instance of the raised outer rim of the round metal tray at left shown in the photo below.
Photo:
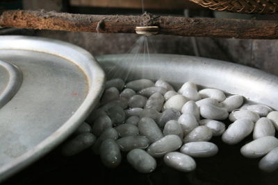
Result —
[{"label": "raised outer rim of the round metal tray at left", "polygon": [[1,36],[0,50],[3,49],[38,51],[70,60],[81,68],[85,76],[88,76],[89,91],[79,109],[56,132],[44,139],[38,146],[35,146],[33,150],[17,157],[12,163],[1,166],[0,182],[46,155],[47,152],[50,152],[51,149],[67,139],[97,105],[104,91],[106,79],[105,73],[97,60],[88,51],[67,42],[42,37]]}]

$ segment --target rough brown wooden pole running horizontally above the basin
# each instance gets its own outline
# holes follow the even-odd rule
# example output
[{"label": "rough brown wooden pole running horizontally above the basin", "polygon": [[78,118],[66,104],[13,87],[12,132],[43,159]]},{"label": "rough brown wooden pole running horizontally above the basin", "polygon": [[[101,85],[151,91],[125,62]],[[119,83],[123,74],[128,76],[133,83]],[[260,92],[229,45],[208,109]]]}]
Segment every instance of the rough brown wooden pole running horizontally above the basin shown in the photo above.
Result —
[{"label": "rough brown wooden pole running horizontally above the basin", "polygon": [[78,15],[60,12],[10,10],[0,17],[0,26],[99,33],[135,33],[136,26],[159,26],[167,35],[278,39],[277,21],[152,17],[152,15]]}]

